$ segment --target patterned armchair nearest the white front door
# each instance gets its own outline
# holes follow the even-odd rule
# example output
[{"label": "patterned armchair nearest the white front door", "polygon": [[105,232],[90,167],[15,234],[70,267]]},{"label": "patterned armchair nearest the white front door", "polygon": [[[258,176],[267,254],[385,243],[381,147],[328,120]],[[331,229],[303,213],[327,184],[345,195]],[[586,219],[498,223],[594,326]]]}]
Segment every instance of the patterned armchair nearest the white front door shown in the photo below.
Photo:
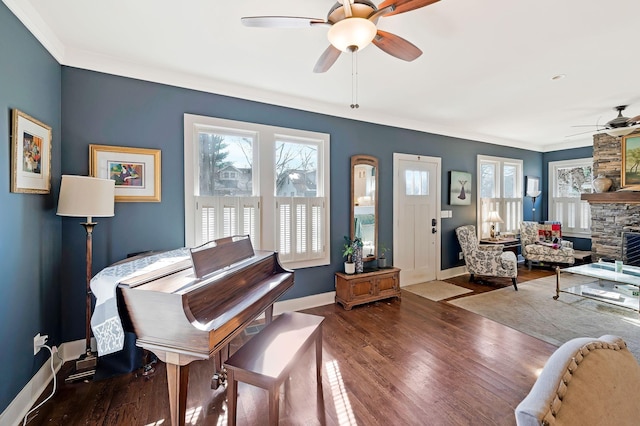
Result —
[{"label": "patterned armchair nearest the white front door", "polygon": [[456,235],[471,281],[475,275],[509,277],[513,281],[513,288],[518,290],[518,259],[513,252],[503,252],[504,246],[501,244],[478,244],[476,227],[473,225],[456,228]]}]

